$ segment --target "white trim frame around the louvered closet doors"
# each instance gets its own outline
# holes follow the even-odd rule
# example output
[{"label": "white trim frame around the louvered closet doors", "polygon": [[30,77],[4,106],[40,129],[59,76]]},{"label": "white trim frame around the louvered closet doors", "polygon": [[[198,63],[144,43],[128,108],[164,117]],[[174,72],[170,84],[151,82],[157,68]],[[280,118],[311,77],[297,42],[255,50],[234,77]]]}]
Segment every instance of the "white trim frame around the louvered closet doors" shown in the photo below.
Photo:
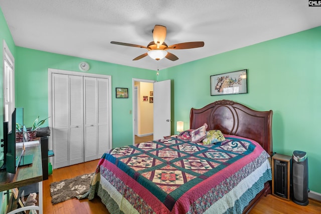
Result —
[{"label": "white trim frame around the louvered closet doors", "polygon": [[[85,76],[85,77],[96,77],[96,78],[104,78],[108,79],[108,90],[109,90],[109,147],[112,148],[112,92],[111,92],[111,76],[103,75],[103,74],[91,74],[91,73],[82,73],[77,71],[67,71],[60,69],[48,68],[48,125],[50,129],[50,133],[52,133],[52,117],[53,117],[53,109],[52,109],[52,74],[66,74],[66,75],[75,75],[75,76]],[[48,148],[49,150],[53,150],[53,135],[48,137]],[[54,151],[55,152],[55,151]],[[53,161],[54,157],[50,157],[50,162],[53,163],[53,168],[55,168],[55,161]]]}]

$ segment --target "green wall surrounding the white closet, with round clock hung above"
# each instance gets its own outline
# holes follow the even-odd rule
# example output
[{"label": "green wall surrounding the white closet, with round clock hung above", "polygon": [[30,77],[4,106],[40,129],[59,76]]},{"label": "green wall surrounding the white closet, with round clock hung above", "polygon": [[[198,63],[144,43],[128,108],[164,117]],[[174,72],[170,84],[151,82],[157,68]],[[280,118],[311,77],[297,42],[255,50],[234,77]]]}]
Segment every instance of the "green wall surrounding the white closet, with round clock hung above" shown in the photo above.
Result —
[{"label": "green wall surrounding the white closet, with round clock hung above", "polygon": [[[27,127],[40,115],[48,117],[48,68],[79,71],[78,64],[90,65],[87,73],[111,75],[113,147],[132,144],[132,79],[156,79],[156,71],[132,68],[106,62],[81,59],[33,49],[16,47],[16,106],[24,107]],[[80,71],[79,71],[80,72]],[[128,88],[128,99],[116,99],[115,88]],[[48,125],[48,121],[46,121]]]}]

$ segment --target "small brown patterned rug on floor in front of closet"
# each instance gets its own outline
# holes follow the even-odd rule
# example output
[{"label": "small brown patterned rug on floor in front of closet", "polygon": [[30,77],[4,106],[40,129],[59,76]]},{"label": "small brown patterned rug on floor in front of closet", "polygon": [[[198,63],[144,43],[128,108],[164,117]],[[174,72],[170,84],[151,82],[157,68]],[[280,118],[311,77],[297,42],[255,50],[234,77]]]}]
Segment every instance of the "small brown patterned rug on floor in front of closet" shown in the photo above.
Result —
[{"label": "small brown patterned rug on floor in front of closet", "polygon": [[92,177],[93,173],[83,174],[74,178],[51,183],[50,195],[52,197],[52,204],[85,194],[89,190]]}]

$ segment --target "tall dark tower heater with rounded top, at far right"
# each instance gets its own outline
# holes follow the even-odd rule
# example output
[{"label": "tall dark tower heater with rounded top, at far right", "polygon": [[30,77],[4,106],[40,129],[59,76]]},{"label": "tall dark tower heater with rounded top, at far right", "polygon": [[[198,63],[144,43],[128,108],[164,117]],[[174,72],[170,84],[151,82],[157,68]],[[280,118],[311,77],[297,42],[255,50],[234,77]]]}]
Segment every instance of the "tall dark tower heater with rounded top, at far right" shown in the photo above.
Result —
[{"label": "tall dark tower heater with rounded top, at far right", "polygon": [[304,151],[293,151],[292,155],[292,200],[306,206],[308,200],[308,167],[307,155]]}]

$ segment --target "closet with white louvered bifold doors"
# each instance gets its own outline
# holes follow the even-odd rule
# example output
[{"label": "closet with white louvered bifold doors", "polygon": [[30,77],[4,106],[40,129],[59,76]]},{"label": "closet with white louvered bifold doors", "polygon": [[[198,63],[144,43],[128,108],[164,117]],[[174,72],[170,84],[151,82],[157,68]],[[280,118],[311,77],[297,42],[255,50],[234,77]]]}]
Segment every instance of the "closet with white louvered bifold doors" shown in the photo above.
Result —
[{"label": "closet with white louvered bifold doors", "polygon": [[49,69],[54,168],[98,159],[111,148],[111,77]]}]

